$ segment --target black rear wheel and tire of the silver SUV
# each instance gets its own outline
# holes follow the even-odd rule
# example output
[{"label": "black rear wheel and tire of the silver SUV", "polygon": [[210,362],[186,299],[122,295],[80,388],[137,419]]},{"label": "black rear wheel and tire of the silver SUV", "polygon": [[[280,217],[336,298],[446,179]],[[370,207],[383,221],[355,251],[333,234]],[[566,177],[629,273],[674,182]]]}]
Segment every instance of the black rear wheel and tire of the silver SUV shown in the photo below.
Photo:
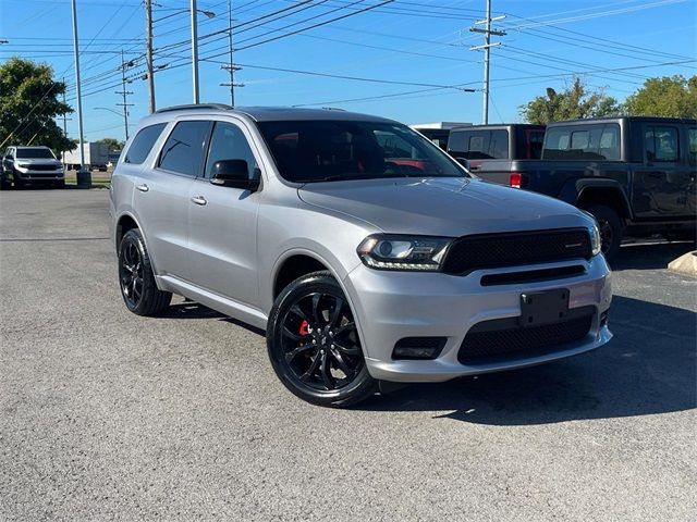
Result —
[{"label": "black rear wheel and tire of the silver SUV", "polygon": [[119,245],[119,287],[126,308],[137,315],[156,315],[172,300],[158,289],[150,257],[137,228],[125,233]]}]

